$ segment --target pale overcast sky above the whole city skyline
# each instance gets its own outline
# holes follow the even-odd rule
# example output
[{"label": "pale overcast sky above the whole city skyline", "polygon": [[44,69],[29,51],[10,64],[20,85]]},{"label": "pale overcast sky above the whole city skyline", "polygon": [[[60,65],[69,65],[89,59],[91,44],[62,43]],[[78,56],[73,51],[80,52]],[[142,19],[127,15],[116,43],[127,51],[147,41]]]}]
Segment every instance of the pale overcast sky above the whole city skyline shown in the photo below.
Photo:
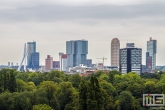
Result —
[{"label": "pale overcast sky above the whole city skyline", "polygon": [[47,55],[59,60],[66,41],[88,40],[88,58],[93,63],[106,57],[110,65],[110,44],[120,40],[143,50],[153,37],[157,45],[157,65],[165,65],[164,0],[0,0],[0,65],[20,63],[24,43],[36,41],[40,64]]}]

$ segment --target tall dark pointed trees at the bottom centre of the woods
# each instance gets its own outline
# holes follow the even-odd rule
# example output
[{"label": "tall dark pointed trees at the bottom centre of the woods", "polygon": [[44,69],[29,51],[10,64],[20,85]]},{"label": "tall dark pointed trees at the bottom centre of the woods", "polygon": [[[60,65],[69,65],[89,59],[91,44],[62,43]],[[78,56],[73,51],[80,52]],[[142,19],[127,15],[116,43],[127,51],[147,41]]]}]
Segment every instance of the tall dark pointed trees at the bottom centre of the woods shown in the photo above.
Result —
[{"label": "tall dark pointed trees at the bottom centre of the woods", "polygon": [[81,95],[79,96],[79,108],[81,110],[86,108],[87,110],[104,110],[104,97],[96,77],[91,77],[87,89],[86,84],[82,82],[79,94]]}]

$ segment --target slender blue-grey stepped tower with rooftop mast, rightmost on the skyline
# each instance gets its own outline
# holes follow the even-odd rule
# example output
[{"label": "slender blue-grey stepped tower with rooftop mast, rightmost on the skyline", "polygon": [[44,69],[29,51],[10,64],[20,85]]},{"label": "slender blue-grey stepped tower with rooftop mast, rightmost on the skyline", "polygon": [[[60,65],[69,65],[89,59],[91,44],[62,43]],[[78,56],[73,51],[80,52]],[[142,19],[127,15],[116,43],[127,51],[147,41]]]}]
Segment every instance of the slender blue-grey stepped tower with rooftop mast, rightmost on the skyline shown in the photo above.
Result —
[{"label": "slender blue-grey stepped tower with rooftop mast, rightmost on the skyline", "polygon": [[[152,37],[147,41],[147,53],[146,53],[146,66],[147,69],[154,71],[156,69],[156,53],[157,53],[157,41],[153,40]],[[151,61],[150,61],[151,60]],[[149,67],[149,63],[152,65]]]}]

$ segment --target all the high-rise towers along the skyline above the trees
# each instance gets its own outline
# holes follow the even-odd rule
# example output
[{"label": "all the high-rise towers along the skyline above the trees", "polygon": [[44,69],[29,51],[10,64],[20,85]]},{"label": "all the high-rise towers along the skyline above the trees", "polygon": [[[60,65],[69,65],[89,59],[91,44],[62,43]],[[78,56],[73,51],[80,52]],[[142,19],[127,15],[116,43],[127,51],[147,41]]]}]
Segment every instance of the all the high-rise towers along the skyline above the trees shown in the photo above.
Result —
[{"label": "all the high-rise towers along the skyline above the trees", "polygon": [[[146,72],[156,69],[157,41],[150,38],[147,41]],[[92,59],[87,59],[88,41],[71,40],[66,41],[66,54],[59,53],[59,61],[53,61],[53,57],[47,55],[45,59],[45,70],[58,69],[68,71],[69,68],[85,65],[91,66]],[[142,49],[136,48],[134,43],[127,43],[126,48],[120,48],[117,38],[111,41],[111,66],[119,67],[122,73],[142,72]],[[27,68],[37,70],[39,66],[39,52],[36,52],[36,42],[27,43]]]}]

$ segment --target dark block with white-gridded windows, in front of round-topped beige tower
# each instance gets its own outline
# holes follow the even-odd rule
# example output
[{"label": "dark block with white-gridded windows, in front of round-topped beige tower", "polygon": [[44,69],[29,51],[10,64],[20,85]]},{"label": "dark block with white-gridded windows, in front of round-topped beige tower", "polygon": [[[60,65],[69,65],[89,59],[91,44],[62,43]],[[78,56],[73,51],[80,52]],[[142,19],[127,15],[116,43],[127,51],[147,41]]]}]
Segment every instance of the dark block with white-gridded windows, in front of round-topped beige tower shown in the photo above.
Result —
[{"label": "dark block with white-gridded windows, in front of round-topped beige tower", "polygon": [[126,47],[120,49],[120,72],[129,73],[136,72],[141,73],[142,65],[142,49],[132,47]]}]

